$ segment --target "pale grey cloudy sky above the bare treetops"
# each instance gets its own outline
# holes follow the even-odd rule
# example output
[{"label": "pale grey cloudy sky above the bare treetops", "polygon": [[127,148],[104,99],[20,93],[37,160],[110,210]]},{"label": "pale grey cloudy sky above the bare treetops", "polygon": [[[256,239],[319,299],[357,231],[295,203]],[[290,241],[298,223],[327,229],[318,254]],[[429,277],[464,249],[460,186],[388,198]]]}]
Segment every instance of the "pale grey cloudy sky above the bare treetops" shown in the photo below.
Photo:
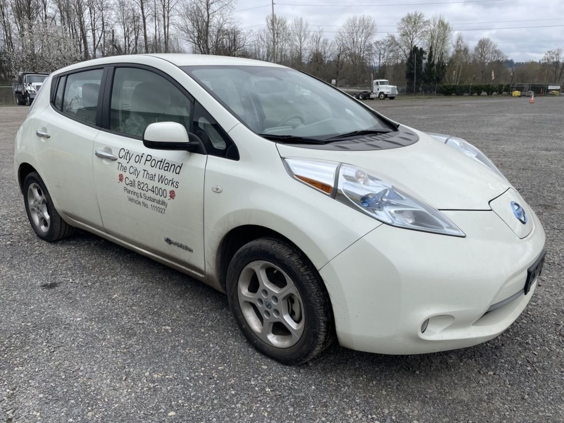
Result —
[{"label": "pale grey cloudy sky above the bare treetops", "polygon": [[[329,38],[347,17],[361,14],[376,20],[376,38],[384,38],[395,31],[400,17],[419,10],[428,17],[444,15],[471,48],[490,37],[515,61],[539,60],[545,51],[564,47],[564,0],[275,0],[274,7],[288,20],[302,16],[312,30],[324,25]],[[235,10],[243,27],[259,29],[271,5],[268,0],[239,0]]]}]

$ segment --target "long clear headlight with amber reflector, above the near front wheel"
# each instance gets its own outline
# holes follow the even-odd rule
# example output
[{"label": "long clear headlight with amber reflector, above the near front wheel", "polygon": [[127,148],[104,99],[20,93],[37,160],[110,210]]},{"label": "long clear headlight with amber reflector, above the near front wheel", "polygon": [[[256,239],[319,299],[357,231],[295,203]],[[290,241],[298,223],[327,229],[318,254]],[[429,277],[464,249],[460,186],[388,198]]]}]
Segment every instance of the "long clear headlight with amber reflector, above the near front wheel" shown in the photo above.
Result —
[{"label": "long clear headlight with amber reflector, above the near front wheel", "polygon": [[284,161],[294,178],[382,223],[416,231],[466,236],[439,210],[367,170],[320,160],[285,158]]}]

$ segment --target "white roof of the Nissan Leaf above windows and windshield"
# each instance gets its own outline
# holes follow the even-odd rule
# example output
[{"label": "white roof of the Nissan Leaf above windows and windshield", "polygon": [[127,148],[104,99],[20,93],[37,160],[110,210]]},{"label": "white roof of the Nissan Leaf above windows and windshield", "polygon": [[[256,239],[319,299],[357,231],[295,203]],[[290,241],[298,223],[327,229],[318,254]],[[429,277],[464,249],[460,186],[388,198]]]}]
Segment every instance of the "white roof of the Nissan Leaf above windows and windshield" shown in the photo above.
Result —
[{"label": "white roof of the Nissan Leaf above windows and windshield", "polygon": [[283,68],[284,66],[275,63],[270,63],[262,60],[253,60],[245,58],[233,58],[230,56],[213,56],[204,54],[130,54],[121,56],[108,56],[101,59],[92,59],[87,61],[81,61],[73,65],[67,66],[63,69],[59,69],[59,72],[68,72],[69,70],[75,70],[80,68],[85,68],[89,66],[96,65],[107,65],[112,63],[146,63],[144,58],[153,57],[156,59],[166,60],[177,66],[202,66],[202,65],[232,65],[232,66],[266,66],[266,67],[277,67]]}]

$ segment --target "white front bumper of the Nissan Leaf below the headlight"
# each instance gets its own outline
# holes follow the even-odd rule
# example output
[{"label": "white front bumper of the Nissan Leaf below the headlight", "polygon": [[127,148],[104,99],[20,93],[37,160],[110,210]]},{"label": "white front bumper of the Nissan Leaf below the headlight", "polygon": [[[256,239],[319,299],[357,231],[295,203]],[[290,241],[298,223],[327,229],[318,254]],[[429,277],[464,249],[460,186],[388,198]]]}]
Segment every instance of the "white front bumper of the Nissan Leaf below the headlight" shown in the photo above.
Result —
[{"label": "white front bumper of the Nissan Leaf below the headlight", "polygon": [[525,286],[545,242],[536,215],[519,239],[493,211],[443,213],[465,238],[382,224],[321,269],[342,346],[382,354],[472,346],[498,336],[525,309],[536,283],[487,312]]}]

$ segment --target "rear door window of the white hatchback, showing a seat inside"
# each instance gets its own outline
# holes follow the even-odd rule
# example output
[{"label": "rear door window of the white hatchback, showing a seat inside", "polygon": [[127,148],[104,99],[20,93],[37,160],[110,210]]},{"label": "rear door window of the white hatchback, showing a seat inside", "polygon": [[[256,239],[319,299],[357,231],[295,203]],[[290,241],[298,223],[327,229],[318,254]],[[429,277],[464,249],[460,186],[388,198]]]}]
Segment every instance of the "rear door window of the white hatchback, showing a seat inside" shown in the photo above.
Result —
[{"label": "rear door window of the white hatchback, showing a seat inside", "polygon": [[63,113],[91,124],[96,123],[96,108],[103,72],[103,69],[95,69],[67,76]]}]

